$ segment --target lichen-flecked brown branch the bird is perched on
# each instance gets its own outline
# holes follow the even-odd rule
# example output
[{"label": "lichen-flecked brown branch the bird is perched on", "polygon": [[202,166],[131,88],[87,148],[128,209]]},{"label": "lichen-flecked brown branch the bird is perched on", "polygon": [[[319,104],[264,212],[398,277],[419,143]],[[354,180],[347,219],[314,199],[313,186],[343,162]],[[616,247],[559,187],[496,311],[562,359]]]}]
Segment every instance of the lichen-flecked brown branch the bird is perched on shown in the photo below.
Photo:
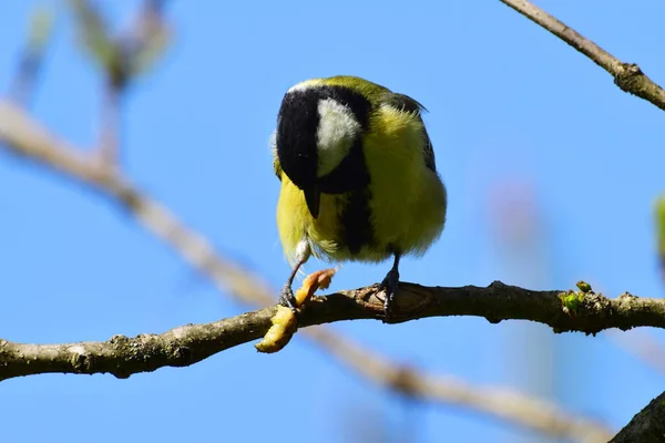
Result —
[{"label": "lichen-flecked brown branch the bird is perched on", "polygon": [[[334,321],[382,318],[378,286],[315,297],[300,313],[300,327]],[[665,301],[622,296],[586,295],[575,315],[565,312],[561,291],[535,291],[494,281],[487,288],[423,287],[401,282],[393,318],[403,322],[427,317],[475,316],[495,323],[508,319],[542,322],[556,332],[596,333],[638,326],[665,328]],[[188,324],[162,334],[133,339],[115,336],[106,342],[20,344],[0,342],[0,380],[48,372],[103,373],[127,378],[163,367],[184,367],[225,349],[263,337],[275,307],[207,324]],[[409,391],[409,390],[407,390]]]}]

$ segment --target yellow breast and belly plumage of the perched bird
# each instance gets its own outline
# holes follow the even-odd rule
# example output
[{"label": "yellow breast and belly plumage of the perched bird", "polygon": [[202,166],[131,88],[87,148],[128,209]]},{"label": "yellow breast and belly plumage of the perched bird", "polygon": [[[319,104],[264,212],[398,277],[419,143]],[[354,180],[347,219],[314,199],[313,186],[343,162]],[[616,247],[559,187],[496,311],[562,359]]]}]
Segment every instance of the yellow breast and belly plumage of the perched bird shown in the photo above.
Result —
[{"label": "yellow breast and belly plumage of the perched bird", "polygon": [[345,245],[342,214],[349,194],[323,194],[318,218],[307,209],[303,192],[282,173],[277,226],[284,251],[293,259],[298,243],[309,238],[313,253],[332,260],[379,261],[392,250],[421,254],[441,234],[446,189],[426,167],[423,130],[416,115],[382,106],[372,116],[375,131],[364,135],[369,171],[371,238],[351,254]]}]

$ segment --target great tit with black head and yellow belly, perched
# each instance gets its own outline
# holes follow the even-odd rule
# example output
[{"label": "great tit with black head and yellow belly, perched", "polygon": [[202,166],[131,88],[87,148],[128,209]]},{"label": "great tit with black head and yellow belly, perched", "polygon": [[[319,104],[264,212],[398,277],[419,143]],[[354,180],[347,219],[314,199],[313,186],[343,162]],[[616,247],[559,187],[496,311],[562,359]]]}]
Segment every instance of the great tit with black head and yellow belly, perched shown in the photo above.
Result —
[{"label": "great tit with black head and yellow belly, perched", "polygon": [[311,79],[286,92],[274,145],[282,182],[277,227],[293,266],[284,306],[295,311],[291,285],[311,255],[393,257],[380,285],[389,318],[400,257],[424,254],[446,223],[447,193],[423,111],[416,100],[357,76]]}]

